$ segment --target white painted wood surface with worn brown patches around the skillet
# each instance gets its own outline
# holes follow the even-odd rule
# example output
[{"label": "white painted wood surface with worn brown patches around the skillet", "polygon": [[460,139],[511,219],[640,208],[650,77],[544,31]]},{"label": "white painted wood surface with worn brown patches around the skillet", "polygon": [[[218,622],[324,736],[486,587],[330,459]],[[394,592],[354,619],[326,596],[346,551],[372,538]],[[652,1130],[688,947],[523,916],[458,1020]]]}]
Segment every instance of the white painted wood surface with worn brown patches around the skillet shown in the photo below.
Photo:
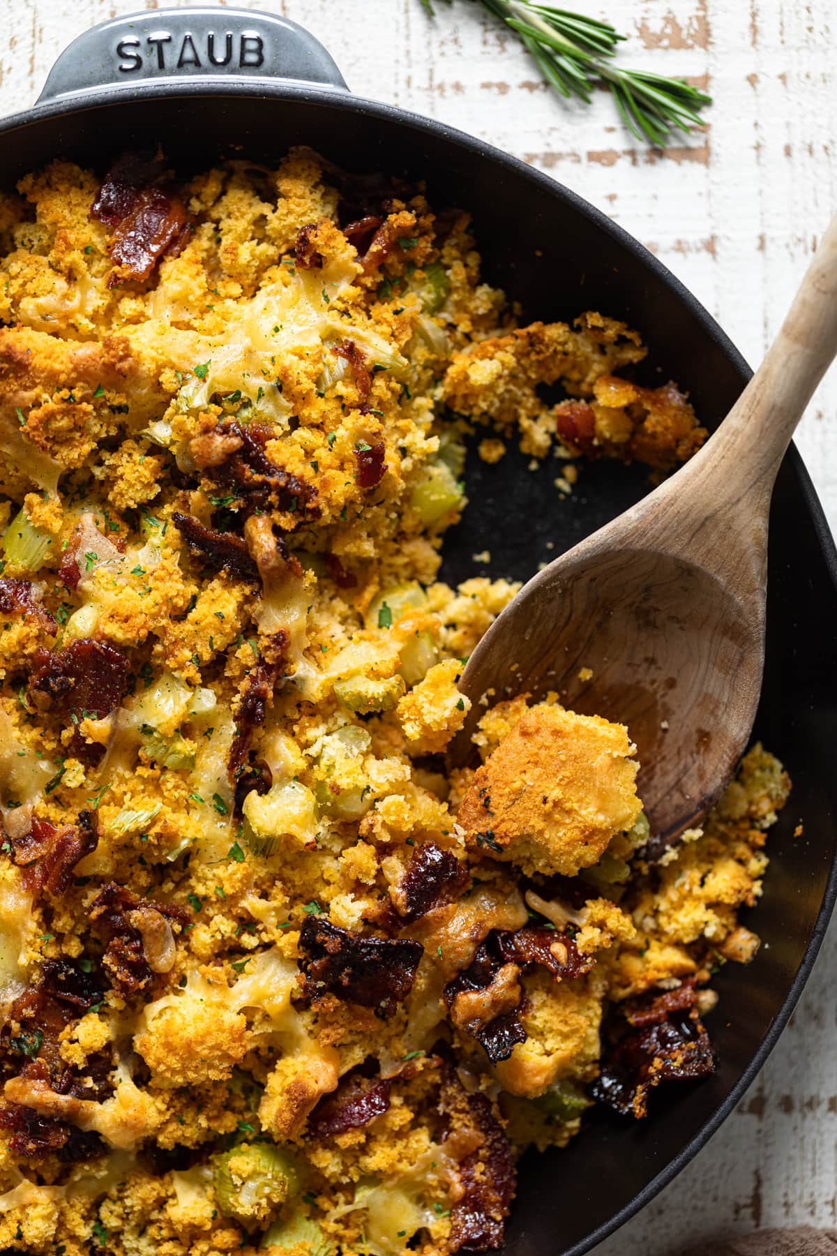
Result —
[{"label": "white painted wood surface with worn brown patches around the skillet", "polygon": [[[5,0],[0,113],[34,100],[72,38],[142,6]],[[706,133],[665,156],[632,141],[605,93],[589,109],[555,99],[516,41],[468,0],[437,0],[435,19],[419,0],[246,6],[306,25],[350,88],[479,134],[581,192],[651,247],[752,363],[837,208],[834,0],[575,0],[630,36],[625,64],[708,84],[715,106]],[[837,371],[798,445],[834,528]],[[597,1256],[668,1256],[724,1228],[837,1223],[836,963],[832,929],[792,1025],[738,1112]]]}]

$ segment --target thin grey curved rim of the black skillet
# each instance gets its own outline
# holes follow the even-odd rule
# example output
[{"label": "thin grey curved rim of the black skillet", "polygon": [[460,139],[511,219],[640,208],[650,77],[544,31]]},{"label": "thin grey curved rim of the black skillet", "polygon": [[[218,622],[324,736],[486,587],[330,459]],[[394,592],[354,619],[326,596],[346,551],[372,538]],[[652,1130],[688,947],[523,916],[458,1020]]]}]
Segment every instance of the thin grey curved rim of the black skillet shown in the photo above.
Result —
[{"label": "thin grey curved rim of the black skillet", "polygon": [[[685,284],[683,284],[683,281],[678,279],[678,276],[674,275],[668,266],[665,266],[658,257],[654,256],[654,254],[640,244],[635,236],[626,231],[625,227],[614,222],[602,210],[599,210],[590,201],[586,201],[572,188],[552,178],[552,176],[545,173],[543,171],[528,166],[526,162],[521,161],[518,157],[513,157],[511,153],[504,152],[502,148],[497,148],[494,144],[491,144],[477,136],[471,136],[467,132],[461,131],[458,127],[452,127],[435,118],[429,118],[424,114],[410,109],[403,109],[399,106],[389,104],[383,100],[373,100],[368,97],[355,95],[351,90],[345,90],[336,85],[321,87],[310,83],[295,83],[289,79],[250,79],[243,77],[227,77],[225,79],[220,79],[215,77],[200,77],[179,80],[144,79],[136,85],[131,84],[131,87],[128,87],[128,84],[124,87],[110,84],[102,88],[87,88],[77,93],[67,93],[64,95],[54,97],[43,104],[38,103],[30,109],[24,109],[1,118],[0,143],[8,142],[5,141],[5,137],[11,136],[15,132],[20,132],[23,138],[23,133],[25,133],[29,127],[38,126],[39,122],[49,118],[64,117],[69,121],[102,108],[112,109],[122,103],[136,103],[138,99],[143,98],[178,99],[183,97],[250,97],[253,99],[300,100],[302,103],[325,106],[326,108],[336,108],[338,112],[356,114],[359,117],[370,117],[394,122],[399,126],[423,132],[425,134],[429,133],[449,143],[457,144],[461,148],[468,149],[481,160],[501,166],[518,178],[523,178],[527,182],[536,185],[543,192],[553,197],[558,203],[566,205],[575,212],[586,217],[594,226],[599,227],[599,230],[604,231],[607,236],[610,236],[615,246],[624,250],[626,254],[631,254],[636,261],[654,274],[656,279],[660,280],[686,308],[688,313],[703,328],[710,340],[730,363],[740,379],[742,388],[753,374],[752,368],[748,365],[720,324],[715,318],[713,318],[701,301],[699,301],[698,298],[685,286]],[[808,511],[811,522],[813,524],[826,571],[837,589],[837,545],[834,544],[834,538],[832,536],[822,504],[811,481],[808,470],[796,445],[792,443],[789,446],[786,461],[789,463],[802,496],[802,502]],[[585,1252],[591,1251],[592,1247],[602,1242],[610,1235],[615,1233],[621,1226],[625,1225],[625,1222],[636,1216],[636,1213],[639,1213],[648,1203],[650,1203],[653,1198],[655,1198],[655,1196],[658,1196],[670,1182],[673,1182],[680,1171],[694,1159],[698,1152],[701,1150],[709,1139],[718,1132],[720,1125],[730,1115],[733,1109],[749,1089],[753,1080],[758,1076],[779,1036],[786,1029],[813,970],[834,909],[836,901],[837,852],[832,859],[828,879],[826,882],[826,891],[811,936],[806,945],[802,962],[794,973],[793,981],[791,982],[787,995],[782,1001],[779,1011],[770,1022],[757,1051],[750,1058],[750,1061],[742,1075],[738,1078],[725,1098],[708,1117],[700,1129],[689,1139],[686,1145],[681,1148],[681,1150],[674,1156],[665,1164],[665,1167],[660,1169],[660,1172],[656,1173],[645,1187],[642,1187],[641,1191],[632,1196],[632,1198],[617,1210],[617,1212],[615,1212],[606,1222],[597,1226],[585,1238],[573,1243],[572,1247],[562,1248],[561,1256],[584,1256]]]}]

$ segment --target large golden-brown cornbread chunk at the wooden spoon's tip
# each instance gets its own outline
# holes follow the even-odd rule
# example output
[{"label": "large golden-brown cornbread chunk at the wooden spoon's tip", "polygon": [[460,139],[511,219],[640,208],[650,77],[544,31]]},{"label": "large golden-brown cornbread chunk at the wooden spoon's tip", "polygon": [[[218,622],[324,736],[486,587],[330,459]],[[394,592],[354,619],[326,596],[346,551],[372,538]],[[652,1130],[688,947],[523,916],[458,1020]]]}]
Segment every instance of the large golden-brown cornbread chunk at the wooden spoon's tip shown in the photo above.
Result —
[{"label": "large golden-brown cornbread chunk at the wooden spoon's tip", "polygon": [[573,877],[630,829],[642,804],[621,723],[531,707],[477,769],[459,808],[468,844],[523,872]]}]

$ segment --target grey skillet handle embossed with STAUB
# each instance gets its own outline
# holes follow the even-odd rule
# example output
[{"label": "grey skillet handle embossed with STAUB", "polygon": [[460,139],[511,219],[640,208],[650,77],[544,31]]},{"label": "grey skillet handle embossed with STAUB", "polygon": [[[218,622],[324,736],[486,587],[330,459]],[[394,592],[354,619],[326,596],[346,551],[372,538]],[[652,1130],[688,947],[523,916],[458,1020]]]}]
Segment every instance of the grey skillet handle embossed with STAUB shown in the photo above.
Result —
[{"label": "grey skillet handle embossed with STAUB", "polygon": [[295,21],[201,5],[128,14],[84,31],[53,65],[38,103],[183,78],[196,87],[261,78],[348,90],[323,44]]}]

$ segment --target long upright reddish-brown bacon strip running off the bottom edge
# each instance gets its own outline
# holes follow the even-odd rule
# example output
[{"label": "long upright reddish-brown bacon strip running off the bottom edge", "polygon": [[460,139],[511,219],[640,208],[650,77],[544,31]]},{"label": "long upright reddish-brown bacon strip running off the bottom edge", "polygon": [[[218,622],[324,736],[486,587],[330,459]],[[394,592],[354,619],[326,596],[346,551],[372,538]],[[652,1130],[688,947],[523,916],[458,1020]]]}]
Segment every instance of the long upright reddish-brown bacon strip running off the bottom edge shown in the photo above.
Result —
[{"label": "long upright reddish-brown bacon strip running off the bottom edge", "polygon": [[487,1095],[468,1094],[450,1065],[442,1078],[439,1112],[462,1191],[450,1208],[448,1251],[492,1251],[502,1246],[517,1182],[508,1139]]}]

